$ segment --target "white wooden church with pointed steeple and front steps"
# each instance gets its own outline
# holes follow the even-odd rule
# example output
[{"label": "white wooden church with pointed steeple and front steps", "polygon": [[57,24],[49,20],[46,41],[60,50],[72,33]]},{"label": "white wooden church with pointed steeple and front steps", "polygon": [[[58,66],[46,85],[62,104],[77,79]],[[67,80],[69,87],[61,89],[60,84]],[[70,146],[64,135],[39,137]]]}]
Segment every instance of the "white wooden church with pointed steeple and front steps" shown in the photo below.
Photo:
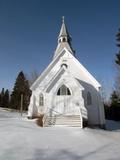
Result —
[{"label": "white wooden church with pointed steeple and front steps", "polygon": [[62,19],[53,59],[31,86],[28,117],[44,115],[43,125],[105,125],[101,85],[76,59]]}]

